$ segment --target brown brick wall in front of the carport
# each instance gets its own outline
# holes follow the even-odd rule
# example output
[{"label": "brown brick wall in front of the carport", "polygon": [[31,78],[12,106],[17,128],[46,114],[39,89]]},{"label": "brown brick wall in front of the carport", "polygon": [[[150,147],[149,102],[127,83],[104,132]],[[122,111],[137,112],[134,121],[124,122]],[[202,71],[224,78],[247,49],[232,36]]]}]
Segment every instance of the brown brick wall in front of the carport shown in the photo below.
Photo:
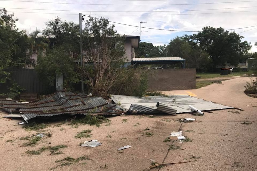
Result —
[{"label": "brown brick wall in front of the carport", "polygon": [[157,69],[148,76],[147,91],[195,89],[196,69]]}]

